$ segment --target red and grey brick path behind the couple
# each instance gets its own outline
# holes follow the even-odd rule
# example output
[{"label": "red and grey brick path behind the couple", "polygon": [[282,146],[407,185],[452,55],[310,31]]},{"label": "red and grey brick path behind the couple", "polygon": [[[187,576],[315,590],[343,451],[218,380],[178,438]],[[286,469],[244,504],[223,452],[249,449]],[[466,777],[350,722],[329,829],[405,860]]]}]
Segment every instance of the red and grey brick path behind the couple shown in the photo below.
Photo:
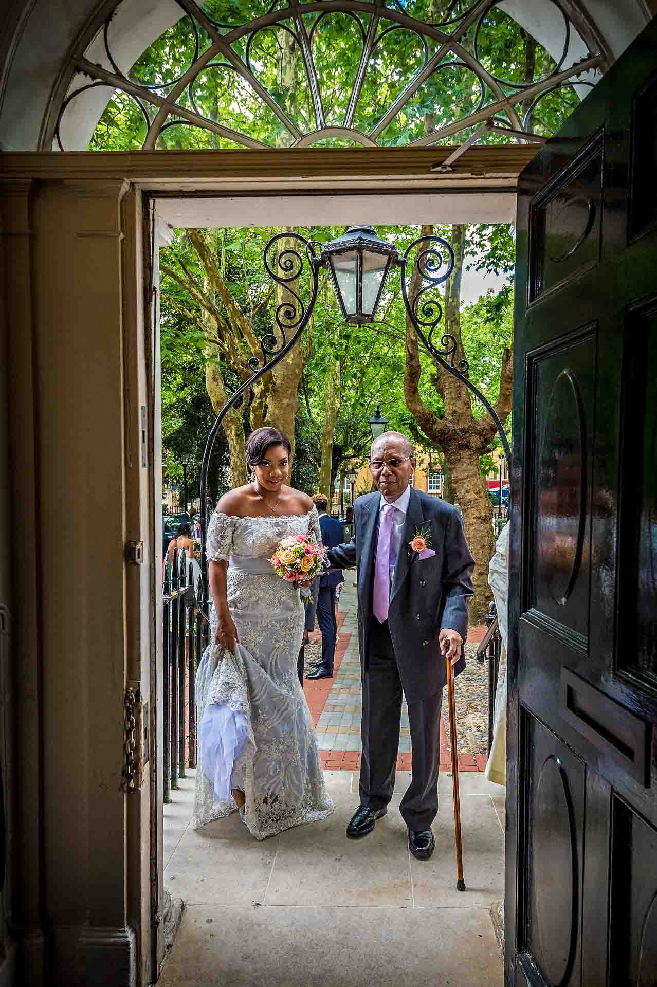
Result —
[{"label": "red and grey brick path behind the couple", "polygon": [[[360,717],[362,712],[360,688],[360,660],[358,657],[358,616],[356,588],[353,577],[346,575],[344,589],[340,595],[340,610],[337,623],[339,641],[335,648],[335,663],[332,679],[304,681],[306,699],[315,723],[322,767],[328,770],[353,771],[360,767],[361,740]],[[470,642],[478,642],[485,628],[475,627],[468,636]],[[321,640],[318,631],[311,636]],[[459,680],[456,682],[459,688]],[[447,690],[443,698],[443,713],[440,719],[440,770],[451,771],[451,754],[448,723]],[[400,752],[397,760],[398,771],[410,771],[410,731],[405,700],[401,710]],[[485,757],[473,754],[459,754],[460,771],[483,771]]]}]

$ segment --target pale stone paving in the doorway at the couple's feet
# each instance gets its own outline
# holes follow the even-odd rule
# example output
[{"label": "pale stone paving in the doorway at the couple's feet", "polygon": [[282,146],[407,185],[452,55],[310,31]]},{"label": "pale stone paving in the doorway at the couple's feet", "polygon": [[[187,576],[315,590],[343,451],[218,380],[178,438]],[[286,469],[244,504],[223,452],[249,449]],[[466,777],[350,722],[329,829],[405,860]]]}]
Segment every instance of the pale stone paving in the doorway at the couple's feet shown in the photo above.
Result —
[{"label": "pale stone paving in the doorway at the couple's feet", "polygon": [[[165,826],[184,826],[190,783],[165,805]],[[165,873],[183,894],[183,921],[162,987],[502,987],[503,963],[489,908],[499,896],[503,836],[493,797],[465,798],[465,873],[456,879],[451,799],[439,794],[436,852],[410,858],[399,813],[399,774],[388,815],[364,840],[344,826],[358,800],[352,771],[325,775],[328,819],[258,842],[237,813],[184,828]],[[485,782],[485,779],[473,779]],[[486,783],[488,784],[488,783]]]}]

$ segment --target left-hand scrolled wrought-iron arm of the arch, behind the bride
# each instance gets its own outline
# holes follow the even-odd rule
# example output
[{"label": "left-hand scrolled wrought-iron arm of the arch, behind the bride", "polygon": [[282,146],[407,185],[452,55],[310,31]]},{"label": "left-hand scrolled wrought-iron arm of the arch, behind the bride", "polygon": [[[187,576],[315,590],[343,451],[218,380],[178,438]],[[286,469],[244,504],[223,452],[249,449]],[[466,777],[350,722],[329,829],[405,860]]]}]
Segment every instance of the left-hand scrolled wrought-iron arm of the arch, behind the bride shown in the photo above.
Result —
[{"label": "left-hand scrolled wrought-iron arm of the arch, behind the bride", "polygon": [[[302,250],[294,250],[292,247],[285,247],[280,250],[272,261],[274,246],[279,240],[297,240],[303,244]],[[252,356],[248,361],[249,368],[254,371],[249,380],[242,384],[235,394],[229,398],[224,407],[215,418],[212,428],[205,443],[203,460],[201,463],[200,478],[200,522],[201,522],[201,570],[203,577],[203,606],[206,608],[210,601],[208,580],[207,580],[207,557],[205,554],[205,544],[207,539],[207,529],[212,516],[214,505],[208,503],[207,497],[207,476],[214,448],[214,441],[221,423],[231,408],[239,408],[244,401],[245,395],[254,386],[255,382],[268,370],[276,365],[292,349],[294,344],[301,337],[308,321],[315,309],[317,292],[320,283],[320,259],[316,252],[318,246],[312,240],[306,240],[299,233],[287,232],[277,233],[267,242],[262,257],[264,268],[269,277],[276,284],[285,288],[286,293],[291,296],[276,306],[274,319],[278,329],[278,336],[274,333],[265,333],[260,340],[260,356]],[[303,273],[304,260],[308,264],[311,273],[311,292],[308,303],[304,304],[297,291],[299,277]],[[293,286],[294,285],[294,286]],[[292,333],[290,336],[289,334]]]}]

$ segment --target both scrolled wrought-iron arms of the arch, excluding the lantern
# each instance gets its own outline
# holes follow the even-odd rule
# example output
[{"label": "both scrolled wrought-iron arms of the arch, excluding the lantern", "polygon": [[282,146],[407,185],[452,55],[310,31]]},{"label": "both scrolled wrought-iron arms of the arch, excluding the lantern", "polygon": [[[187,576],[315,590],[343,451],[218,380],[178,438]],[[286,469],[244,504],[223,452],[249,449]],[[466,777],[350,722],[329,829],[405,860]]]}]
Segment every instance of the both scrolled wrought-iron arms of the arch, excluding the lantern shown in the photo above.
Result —
[{"label": "both scrolled wrought-iron arms of the arch, excluding the lantern", "polygon": [[[373,230],[372,233],[374,233]],[[341,239],[346,240],[347,236],[348,234],[345,234]],[[302,249],[294,250],[289,246],[293,240],[296,240],[302,245]],[[350,247],[359,240],[363,242],[362,238],[358,238],[354,234],[351,241],[344,244],[344,247]],[[277,256],[274,259],[274,249],[279,242],[284,242],[283,249],[277,252]],[[271,370],[300,339],[315,308],[320,283],[320,270],[323,266],[328,266],[328,250],[330,247],[331,245],[327,247],[327,245],[317,241],[307,240],[300,233],[286,232],[277,233],[271,237],[264,248],[262,260],[265,270],[272,280],[285,290],[287,297],[279,302],[274,312],[277,335],[267,333],[260,340],[261,362],[256,356],[251,357],[249,366],[254,371],[253,375],[236,390],[235,394],[229,398],[221,409],[210,429],[205,444],[201,464],[200,514],[203,605],[206,608],[209,605],[210,597],[208,592],[205,542],[208,525],[214,509],[214,505],[207,502],[207,478],[217,432],[231,408],[240,407],[245,395],[254,386],[256,381],[268,370]],[[416,253],[413,255],[413,252]],[[408,318],[412,322],[418,339],[436,363],[440,364],[440,366],[444,367],[445,370],[465,384],[474,394],[474,397],[481,402],[487,414],[493,418],[504,448],[504,453],[507,457],[507,462],[510,464],[511,450],[504,426],[488,399],[470,380],[468,360],[465,356],[459,358],[459,343],[456,337],[450,333],[443,333],[440,338],[440,345],[437,346],[434,342],[434,333],[443,317],[443,309],[436,289],[447,280],[455,265],[455,256],[451,245],[443,237],[430,235],[418,237],[416,240],[413,240],[401,256],[394,248],[388,251],[388,253],[391,255],[389,266],[399,266],[400,268],[401,295],[404,308]],[[304,263],[310,269],[311,279],[310,297],[306,303],[304,303],[301,295],[294,286],[299,282],[304,269]],[[417,278],[419,286],[414,295],[409,297],[408,287],[413,282],[413,275]],[[381,291],[383,291],[384,286],[385,276],[381,285]],[[340,306],[342,306],[341,299]],[[376,312],[376,306],[374,311]],[[372,320],[360,319],[358,321],[366,322]]]}]

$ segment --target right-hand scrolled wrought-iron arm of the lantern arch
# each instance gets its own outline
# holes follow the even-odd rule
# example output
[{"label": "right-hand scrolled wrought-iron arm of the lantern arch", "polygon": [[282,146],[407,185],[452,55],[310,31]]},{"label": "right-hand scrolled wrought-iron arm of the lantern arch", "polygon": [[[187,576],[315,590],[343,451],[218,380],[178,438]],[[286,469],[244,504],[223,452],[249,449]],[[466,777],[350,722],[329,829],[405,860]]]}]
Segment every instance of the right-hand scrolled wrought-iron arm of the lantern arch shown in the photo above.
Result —
[{"label": "right-hand scrolled wrought-iron arm of the lantern arch", "polygon": [[[408,257],[414,248],[420,248],[421,245],[423,247],[422,249],[418,249],[417,257],[410,269],[411,279],[413,272],[417,271],[424,283],[415,292],[413,297],[409,299],[407,281]],[[504,448],[504,454],[507,457],[507,462],[510,464],[511,449],[504,431],[504,426],[488,399],[470,380],[468,360],[462,358],[457,362],[459,343],[456,337],[451,333],[444,333],[440,340],[442,347],[440,349],[433,342],[434,330],[443,318],[443,308],[437,294],[431,295],[429,293],[447,280],[454,269],[454,263],[454,251],[447,240],[443,240],[442,237],[425,236],[413,240],[401,258],[401,295],[403,297],[403,304],[415,332],[427,352],[445,370],[454,377],[458,377],[472,391],[475,398],[481,402],[488,415],[493,419]]]}]

